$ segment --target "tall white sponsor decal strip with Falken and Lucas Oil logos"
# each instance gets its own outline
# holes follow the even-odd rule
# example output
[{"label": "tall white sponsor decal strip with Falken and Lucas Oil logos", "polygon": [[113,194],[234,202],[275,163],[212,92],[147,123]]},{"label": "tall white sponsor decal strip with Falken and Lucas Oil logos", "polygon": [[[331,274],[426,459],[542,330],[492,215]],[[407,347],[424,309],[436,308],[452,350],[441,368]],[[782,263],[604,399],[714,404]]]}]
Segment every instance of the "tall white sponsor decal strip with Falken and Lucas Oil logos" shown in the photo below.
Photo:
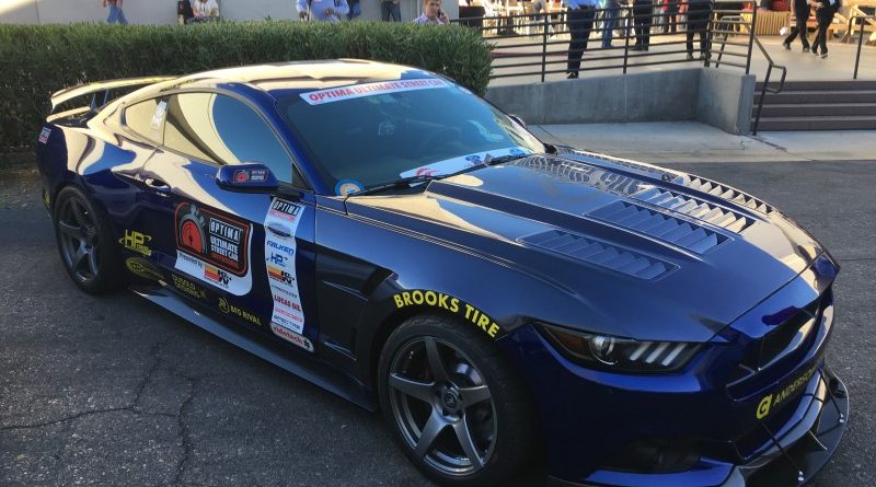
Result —
[{"label": "tall white sponsor decal strip with Falken and Lucas Oil logos", "polygon": [[273,310],[270,329],[275,335],[310,351],[313,346],[300,334],[304,329],[304,312],[298,294],[295,270],[295,234],[303,207],[274,198],[265,216],[265,270]]}]

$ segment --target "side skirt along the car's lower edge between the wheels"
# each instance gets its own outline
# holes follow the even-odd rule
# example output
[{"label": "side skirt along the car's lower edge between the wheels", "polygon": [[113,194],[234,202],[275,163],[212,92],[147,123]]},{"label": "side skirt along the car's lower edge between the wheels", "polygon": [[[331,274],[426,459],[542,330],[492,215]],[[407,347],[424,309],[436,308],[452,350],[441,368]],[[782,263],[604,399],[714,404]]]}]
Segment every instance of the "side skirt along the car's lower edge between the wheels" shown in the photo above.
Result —
[{"label": "side skirt along the car's lower edge between the wheels", "polygon": [[192,308],[183,298],[165,289],[131,286],[131,290],[181,318],[194,323],[200,328],[230,344],[237,345],[263,360],[334,393],[366,410],[377,410],[374,401],[361,386],[357,385],[351,379],[348,379],[341,372],[320,363],[315,357],[302,356],[299,358],[293,357],[290,352],[284,352],[277,345],[269,343],[267,338],[256,336],[254,333],[250,332],[244,333],[243,331],[235,329],[232,325],[226,325],[218,320],[214,320],[207,314]]}]

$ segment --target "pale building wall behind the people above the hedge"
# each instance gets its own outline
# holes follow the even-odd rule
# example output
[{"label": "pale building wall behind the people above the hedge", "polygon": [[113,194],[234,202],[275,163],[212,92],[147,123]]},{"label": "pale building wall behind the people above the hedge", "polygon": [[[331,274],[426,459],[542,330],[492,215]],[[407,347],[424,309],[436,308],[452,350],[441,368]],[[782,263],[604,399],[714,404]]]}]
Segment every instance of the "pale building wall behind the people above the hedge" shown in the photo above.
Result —
[{"label": "pale building wall behind the people above the hedge", "polygon": [[[218,0],[222,18],[233,21],[297,19],[295,0]],[[419,15],[422,0],[401,0],[402,21]],[[132,24],[172,24],[176,22],[176,0],[124,0],[125,15]],[[380,20],[380,0],[361,0],[359,20]],[[456,1],[443,0],[451,19],[459,16]],[[0,23],[57,24],[103,22],[107,9],[102,0],[0,0]]]}]

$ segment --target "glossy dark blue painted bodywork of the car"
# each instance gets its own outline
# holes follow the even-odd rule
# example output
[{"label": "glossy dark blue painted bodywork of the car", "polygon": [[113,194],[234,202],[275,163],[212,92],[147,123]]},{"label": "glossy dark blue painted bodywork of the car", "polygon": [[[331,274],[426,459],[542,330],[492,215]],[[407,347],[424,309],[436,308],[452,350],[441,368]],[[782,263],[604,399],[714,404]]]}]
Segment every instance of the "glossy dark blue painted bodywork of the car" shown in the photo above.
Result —
[{"label": "glossy dark blue painted bodywork of the car", "polygon": [[[839,266],[823,247],[774,208],[733,188],[572,150],[434,181],[422,190],[334,196],[276,108],[278,97],[333,86],[323,79],[355,84],[430,77],[412,68],[328,61],[164,81],[110,103],[84,124],[48,123],[51,134],[37,146],[39,169],[51,200],[65,185],[80,186],[111,217],[119,241],[131,231],[148,235],[151,255],[126,255],[146,258],[165,277],[168,290],[189,306],[273,339],[290,356],[319,360],[370,393],[380,351],[374,340],[385,335],[385,326],[412,312],[453,314],[435,305],[399,306],[397,292],[430,290],[475,306],[498,325],[497,344],[530,390],[550,473],[557,478],[719,485],[770,450],[769,439],[752,433],[760,422],[759,401],[812,366],[819,372],[806,381],[807,391],[816,391],[822,376],[833,378],[822,367],[832,326],[825,310],[832,311],[830,287]],[[124,106],[180,91],[219,91],[245,101],[296,161],[304,187],[280,197],[302,208],[293,259],[306,318],[302,335],[314,344],[312,355],[280,340],[268,326],[273,303],[265,263],[276,257],[265,250],[272,230],[264,221],[272,195],[223,190],[216,184],[216,164],[149,143],[122,126]],[[675,204],[666,202],[672,198]],[[251,227],[249,292],[237,295],[175,268],[175,212],[184,204]],[[679,235],[695,235],[676,241],[657,235],[653,225],[643,225],[648,219],[675,225]],[[586,239],[622,265],[533,244],[545,232]],[[685,245],[693,239],[708,240]],[[662,270],[636,274],[638,259]],[[180,282],[174,289],[173,276],[194,288]],[[819,322],[805,346],[730,384],[752,344],[817,300]],[[479,326],[457,317],[460,326]],[[561,353],[538,331],[539,322],[636,340],[694,343],[699,349],[682,370],[667,374],[593,370]],[[782,409],[799,408],[812,394],[788,399]],[[800,421],[794,413],[771,427],[781,439]],[[700,460],[688,471],[603,467],[630,442],[681,437],[700,445]],[[751,441],[746,449],[734,443],[742,437]],[[734,449],[737,457],[726,453]]]}]

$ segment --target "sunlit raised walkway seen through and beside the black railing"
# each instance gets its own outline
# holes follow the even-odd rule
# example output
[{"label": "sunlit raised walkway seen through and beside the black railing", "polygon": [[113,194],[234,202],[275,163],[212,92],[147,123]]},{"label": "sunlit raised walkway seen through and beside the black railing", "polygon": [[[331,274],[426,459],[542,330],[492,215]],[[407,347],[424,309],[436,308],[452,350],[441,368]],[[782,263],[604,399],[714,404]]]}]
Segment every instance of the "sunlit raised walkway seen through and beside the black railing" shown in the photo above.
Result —
[{"label": "sunlit raised walkway seen through and beside the black railing", "polygon": [[[851,80],[852,74],[854,72],[854,60],[855,60],[855,53],[857,50],[857,44],[844,44],[840,43],[839,39],[831,39],[828,43],[829,49],[829,57],[827,59],[821,59],[820,57],[812,56],[811,54],[803,54],[800,53],[800,45],[799,40],[794,45],[793,50],[785,50],[782,47],[782,39],[781,36],[758,36],[761,43],[766,48],[766,51],[772,56],[773,61],[779,65],[784,65],[787,68],[787,80],[789,81],[822,81],[822,80]],[[810,36],[811,39],[811,36]],[[669,43],[669,42],[682,42],[684,40],[684,35],[670,35],[670,36],[655,36],[652,38],[653,43]],[[733,42],[736,43],[747,43],[748,38],[746,36],[737,36],[731,38]],[[520,76],[514,78],[498,78],[491,80],[491,86],[498,86],[498,85],[508,85],[508,84],[529,84],[529,83],[537,83],[541,81],[540,73],[540,66],[531,66],[525,68],[500,68],[503,65],[511,65],[511,63],[523,63],[523,62],[541,62],[541,51],[542,47],[539,46],[529,46],[529,47],[519,47],[521,44],[532,44],[541,42],[540,36],[533,37],[518,37],[518,38],[496,38],[492,40],[495,44],[495,53],[499,56],[493,61],[493,74],[505,74],[505,73],[525,73],[525,72],[533,72],[534,74],[529,76]],[[561,54],[563,50],[568,48],[568,35],[563,34],[560,36],[555,36],[551,38],[551,42],[556,42],[557,44],[550,45],[548,47],[548,61],[555,61],[553,65],[549,65],[549,70],[562,70],[565,69],[565,55]],[[618,40],[615,40],[615,45],[620,45]],[[590,39],[590,48],[596,49],[600,46],[600,43],[596,39],[596,35],[593,38]],[[747,48],[741,46],[734,46],[728,47],[728,50],[733,50],[734,53],[738,53],[744,55]],[[672,53],[676,51],[676,53]],[[643,53],[647,56],[641,57],[633,57],[630,59],[631,68],[629,72],[642,72],[642,71],[650,71],[650,70],[666,70],[666,69],[678,69],[684,67],[694,67],[694,66],[703,66],[703,61],[685,61],[685,53],[683,44],[672,44],[672,45],[660,45],[660,44],[652,44],[650,50],[648,53]],[[520,54],[520,53],[531,53],[533,57],[502,57],[503,55],[508,54]],[[553,53],[553,54],[551,54]],[[672,54],[670,54],[672,53]],[[630,53],[631,55],[636,55],[637,53]],[[622,63],[622,59],[604,59],[607,56],[623,56],[623,49],[614,49],[614,50],[588,50],[584,55],[584,62],[581,65],[583,69],[593,68],[593,67],[607,67],[612,65]],[[745,63],[744,57],[727,57],[727,60],[734,60],[736,62]],[[655,62],[655,61],[666,61],[672,60],[676,61],[670,65],[658,65],[658,66],[636,66],[642,65],[643,62]],[[754,74],[758,81],[762,80],[763,77],[766,74],[766,68],[769,63],[763,55],[754,48],[751,55],[751,73]],[[725,69],[725,68],[723,68]],[[741,70],[739,68],[730,68],[727,67],[726,69],[735,69]],[[581,71],[581,77],[596,77],[596,76],[603,76],[603,74],[616,74],[622,72],[620,68],[614,69],[600,69],[597,71]],[[779,73],[773,72],[774,80],[779,79]],[[554,73],[548,74],[546,81],[558,81],[566,79],[565,73]],[[858,79],[860,80],[876,80],[876,47],[874,46],[866,46],[864,45],[861,50],[861,63],[858,68]]]}]

